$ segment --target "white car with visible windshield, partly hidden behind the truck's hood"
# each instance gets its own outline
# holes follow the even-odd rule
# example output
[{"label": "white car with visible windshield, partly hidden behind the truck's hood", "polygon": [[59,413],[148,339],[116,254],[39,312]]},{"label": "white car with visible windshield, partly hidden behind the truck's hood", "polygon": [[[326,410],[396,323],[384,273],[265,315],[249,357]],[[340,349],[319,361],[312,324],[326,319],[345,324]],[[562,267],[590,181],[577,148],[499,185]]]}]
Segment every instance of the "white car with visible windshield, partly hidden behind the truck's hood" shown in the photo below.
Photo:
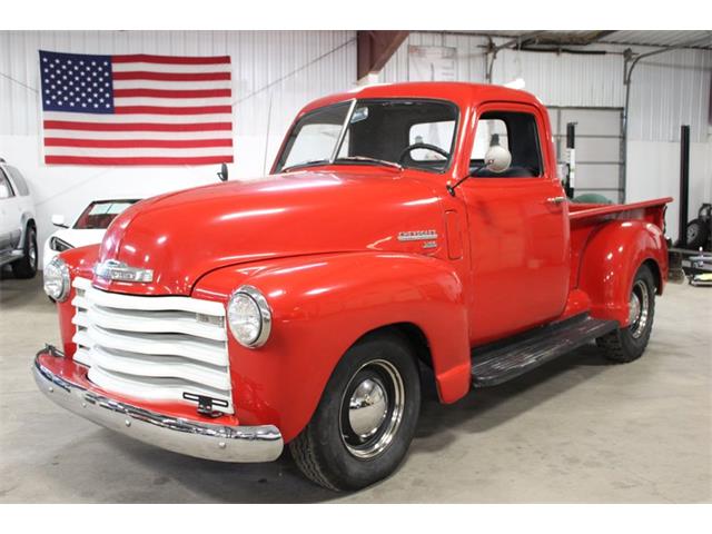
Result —
[{"label": "white car with visible windshield, partly hidden behind the truck's hood", "polygon": [[137,199],[123,198],[95,200],[85,208],[71,227],[65,224],[63,215],[52,215],[52,225],[61,229],[55,231],[44,241],[43,267],[47,268],[59,253],[101,243],[103,234],[116,216],[136,202],[138,202]]}]

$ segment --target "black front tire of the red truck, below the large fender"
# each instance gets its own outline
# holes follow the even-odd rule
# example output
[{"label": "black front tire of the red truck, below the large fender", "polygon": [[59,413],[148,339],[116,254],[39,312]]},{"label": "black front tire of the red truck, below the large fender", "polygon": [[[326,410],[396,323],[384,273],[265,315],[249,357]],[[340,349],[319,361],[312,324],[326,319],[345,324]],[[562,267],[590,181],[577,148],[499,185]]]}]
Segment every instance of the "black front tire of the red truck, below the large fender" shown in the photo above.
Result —
[{"label": "black front tire of the red truck, below the large fender", "polygon": [[[394,369],[400,377],[402,387],[396,387],[397,378],[389,376]],[[387,408],[377,431],[372,431],[375,434],[364,438],[352,426],[350,417],[356,411],[346,406],[352,406],[359,386],[372,378],[384,386]],[[388,389],[388,380],[394,388]],[[398,398],[397,390],[403,392],[400,409],[393,402]],[[347,398],[348,405],[345,404]],[[365,398],[370,403],[368,395]],[[415,434],[419,411],[421,377],[407,340],[396,334],[367,336],[349,348],[338,363],[312,421],[289,444],[289,449],[301,473],[316,484],[334,491],[360,490],[387,477],[398,467]],[[399,423],[393,429],[398,413]],[[360,439],[366,441],[360,444]],[[385,439],[387,443],[383,444]]]}]

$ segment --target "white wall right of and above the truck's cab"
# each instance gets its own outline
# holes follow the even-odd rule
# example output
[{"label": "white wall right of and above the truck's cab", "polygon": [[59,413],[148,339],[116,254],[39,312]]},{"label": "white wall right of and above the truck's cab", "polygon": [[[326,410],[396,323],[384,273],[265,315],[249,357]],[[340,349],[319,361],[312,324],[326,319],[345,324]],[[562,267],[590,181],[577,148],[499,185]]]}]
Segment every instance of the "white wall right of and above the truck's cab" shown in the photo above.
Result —
[{"label": "white wall right of and above the truck's cab", "polygon": [[[498,40],[496,42],[503,42]],[[486,80],[485,46],[478,36],[413,32],[396,51],[378,81],[408,79],[408,44],[457,48],[456,79]],[[625,106],[623,50],[596,44],[605,55],[557,55],[503,50],[497,55],[493,82],[523,78],[526,90],[547,106]],[[652,50],[630,47],[637,52]],[[710,83],[712,52],[676,50],[641,60],[633,75],[629,117],[626,200],[679,196],[680,126],[691,126],[690,214],[712,200],[712,129]],[[675,200],[668,211],[669,235],[678,237]]]}]

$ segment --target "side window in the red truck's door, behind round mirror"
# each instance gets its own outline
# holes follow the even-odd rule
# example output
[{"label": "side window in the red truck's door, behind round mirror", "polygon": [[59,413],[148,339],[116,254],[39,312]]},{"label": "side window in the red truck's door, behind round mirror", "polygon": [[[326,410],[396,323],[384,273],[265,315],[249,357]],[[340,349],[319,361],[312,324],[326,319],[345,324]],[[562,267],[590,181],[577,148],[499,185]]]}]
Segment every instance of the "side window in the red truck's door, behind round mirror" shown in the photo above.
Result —
[{"label": "side window in the red truck's door, behind round mirror", "polygon": [[[500,147],[500,148],[496,148]],[[507,154],[511,161],[507,162]],[[498,158],[497,170],[485,168],[485,159]],[[536,119],[520,111],[487,111],[477,120],[469,171],[483,178],[527,178],[542,175],[542,155]]]}]

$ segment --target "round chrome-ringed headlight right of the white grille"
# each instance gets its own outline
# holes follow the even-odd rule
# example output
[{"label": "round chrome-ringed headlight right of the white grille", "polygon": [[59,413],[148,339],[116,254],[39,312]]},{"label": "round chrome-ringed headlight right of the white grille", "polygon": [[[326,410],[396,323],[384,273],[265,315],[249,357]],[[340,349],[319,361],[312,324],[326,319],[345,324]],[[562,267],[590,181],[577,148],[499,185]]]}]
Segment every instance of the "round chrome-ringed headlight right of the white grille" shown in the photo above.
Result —
[{"label": "round chrome-ringed headlight right of the white grille", "polygon": [[269,338],[271,312],[258,289],[241,286],[230,295],[227,303],[227,322],[240,345],[257,348]]}]

